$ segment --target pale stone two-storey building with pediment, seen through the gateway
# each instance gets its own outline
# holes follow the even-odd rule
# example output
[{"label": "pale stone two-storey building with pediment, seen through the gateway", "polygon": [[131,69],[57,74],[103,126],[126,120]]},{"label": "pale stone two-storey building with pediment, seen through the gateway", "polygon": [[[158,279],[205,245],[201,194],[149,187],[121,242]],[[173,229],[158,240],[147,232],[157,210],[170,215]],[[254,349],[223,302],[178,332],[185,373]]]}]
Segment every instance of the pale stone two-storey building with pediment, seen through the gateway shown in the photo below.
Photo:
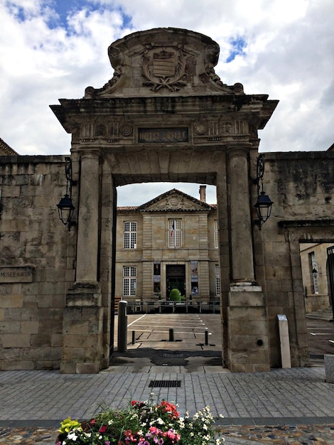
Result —
[{"label": "pale stone two-storey building with pediment, seen through the gateway", "polygon": [[172,289],[195,306],[220,299],[217,206],[176,189],[117,209],[117,299],[156,307]]}]

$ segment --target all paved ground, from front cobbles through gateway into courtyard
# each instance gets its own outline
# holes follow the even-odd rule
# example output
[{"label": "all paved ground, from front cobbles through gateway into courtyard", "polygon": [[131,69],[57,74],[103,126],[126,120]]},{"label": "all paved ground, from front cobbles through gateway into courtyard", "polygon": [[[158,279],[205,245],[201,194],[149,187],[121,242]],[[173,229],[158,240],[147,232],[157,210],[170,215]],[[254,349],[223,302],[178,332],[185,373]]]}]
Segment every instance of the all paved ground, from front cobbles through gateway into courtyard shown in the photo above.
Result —
[{"label": "all paved ground, from front cobbles through gateway into courtyard", "polygon": [[[215,331],[210,318],[201,316],[200,320],[205,323],[204,329]],[[172,321],[168,318],[169,326]],[[184,319],[182,323],[184,331]],[[181,413],[188,409],[193,414],[209,404],[226,444],[334,444],[334,385],[325,382],[319,350],[316,362],[309,368],[232,374],[212,364],[211,360],[220,358],[219,339],[210,336],[208,346],[203,345],[204,331],[198,331],[198,318],[191,323],[196,324],[190,327],[195,334],[173,344],[154,338],[156,333],[145,334],[148,338],[144,341],[141,334],[139,343],[129,344],[129,362],[121,360],[98,375],[0,372],[0,444],[54,444],[56,430],[65,417],[87,419],[99,411],[100,404],[117,408],[131,399],[147,400],[151,392],[157,400],[178,403]],[[177,339],[181,328],[175,331]],[[154,330],[165,331],[160,335],[168,333],[162,325]],[[136,332],[139,333],[139,324]],[[316,332],[313,325],[312,332]],[[178,355],[181,343],[183,357],[163,356]],[[152,358],[146,355],[146,349],[153,344],[161,349]],[[196,348],[203,351],[202,358],[195,354]],[[161,364],[159,360],[182,363]],[[152,389],[152,380],[179,380],[181,386]],[[224,419],[219,418],[220,414]]]}]

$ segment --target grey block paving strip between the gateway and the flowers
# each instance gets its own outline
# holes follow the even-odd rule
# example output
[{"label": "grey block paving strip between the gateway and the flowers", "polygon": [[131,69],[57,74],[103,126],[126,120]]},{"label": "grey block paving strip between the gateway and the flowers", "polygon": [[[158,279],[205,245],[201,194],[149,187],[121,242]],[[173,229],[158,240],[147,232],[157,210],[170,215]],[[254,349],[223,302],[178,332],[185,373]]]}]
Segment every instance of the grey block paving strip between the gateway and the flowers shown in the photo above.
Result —
[{"label": "grey block paving strip between the gateway and the flowers", "polygon": [[[151,380],[180,380],[180,387],[149,387]],[[87,419],[101,404],[118,408],[130,400],[166,399],[194,414],[209,404],[225,419],[314,419],[334,423],[334,385],[324,368],[271,372],[161,372],[62,375],[58,371],[0,372],[0,420]],[[254,423],[254,422],[252,422]]]}]

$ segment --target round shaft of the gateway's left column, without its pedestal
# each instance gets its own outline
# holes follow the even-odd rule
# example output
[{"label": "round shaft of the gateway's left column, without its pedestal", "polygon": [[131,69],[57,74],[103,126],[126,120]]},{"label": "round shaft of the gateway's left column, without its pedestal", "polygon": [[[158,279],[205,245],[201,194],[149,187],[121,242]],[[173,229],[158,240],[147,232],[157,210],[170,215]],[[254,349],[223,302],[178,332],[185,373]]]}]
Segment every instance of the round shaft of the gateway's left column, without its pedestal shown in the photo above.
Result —
[{"label": "round shaft of the gateway's left column, without its pedestal", "polygon": [[82,151],[76,282],[97,281],[99,151]]}]

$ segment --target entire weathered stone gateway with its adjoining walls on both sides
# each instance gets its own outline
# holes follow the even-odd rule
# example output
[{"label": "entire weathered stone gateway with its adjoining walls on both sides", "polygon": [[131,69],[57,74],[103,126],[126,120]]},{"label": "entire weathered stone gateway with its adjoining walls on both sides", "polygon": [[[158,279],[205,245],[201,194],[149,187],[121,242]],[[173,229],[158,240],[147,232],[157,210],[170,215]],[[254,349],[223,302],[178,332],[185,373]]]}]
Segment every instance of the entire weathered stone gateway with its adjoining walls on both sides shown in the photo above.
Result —
[{"label": "entire weathered stone gateway with its adjoining walls on both sides", "polygon": [[223,84],[218,52],[192,31],[134,33],[109,47],[114,77],[104,87],[52,106],[72,134],[70,232],[55,206],[65,157],[0,156],[1,370],[107,367],[114,191],[154,181],[217,186],[224,365],[280,366],[279,313],[289,320],[293,366],[308,363],[299,242],[333,241],[333,152],[265,154],[274,207],[260,231],[258,130],[277,101]]}]

